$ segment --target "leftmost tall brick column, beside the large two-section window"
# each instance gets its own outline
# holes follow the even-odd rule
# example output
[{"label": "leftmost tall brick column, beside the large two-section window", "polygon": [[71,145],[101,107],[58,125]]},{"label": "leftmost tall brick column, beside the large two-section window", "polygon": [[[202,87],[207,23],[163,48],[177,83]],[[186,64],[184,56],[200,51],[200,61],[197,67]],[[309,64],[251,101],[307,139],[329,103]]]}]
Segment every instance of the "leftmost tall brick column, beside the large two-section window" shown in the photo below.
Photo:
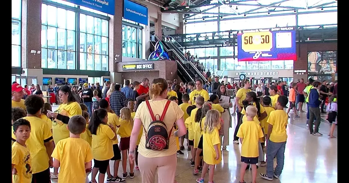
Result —
[{"label": "leftmost tall brick column, beside the large two-section window", "polygon": [[22,0],[21,54],[23,69],[41,69],[41,0]]}]

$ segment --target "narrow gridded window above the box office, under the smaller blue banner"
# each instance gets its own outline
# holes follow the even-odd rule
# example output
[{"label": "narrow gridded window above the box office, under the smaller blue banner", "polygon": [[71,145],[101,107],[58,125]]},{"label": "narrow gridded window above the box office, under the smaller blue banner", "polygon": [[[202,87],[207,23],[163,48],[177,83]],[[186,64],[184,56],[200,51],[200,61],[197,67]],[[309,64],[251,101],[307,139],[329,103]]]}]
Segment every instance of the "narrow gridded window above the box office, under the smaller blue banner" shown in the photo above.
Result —
[{"label": "narrow gridded window above the box office, under the smaller blue banner", "polygon": [[142,30],[122,25],[122,56],[142,58]]}]

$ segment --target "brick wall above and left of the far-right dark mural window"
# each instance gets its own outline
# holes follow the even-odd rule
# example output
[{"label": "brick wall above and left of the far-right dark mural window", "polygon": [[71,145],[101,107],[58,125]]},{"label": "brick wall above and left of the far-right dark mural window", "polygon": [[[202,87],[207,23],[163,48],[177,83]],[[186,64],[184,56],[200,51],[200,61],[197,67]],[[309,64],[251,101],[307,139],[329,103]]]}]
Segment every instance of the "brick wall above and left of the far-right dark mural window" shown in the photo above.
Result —
[{"label": "brick wall above and left of the far-right dark mural window", "polygon": [[[308,70],[308,52],[316,51],[336,51],[337,43],[297,43],[297,61],[294,62],[294,70]],[[293,74],[294,81],[299,81],[301,78],[307,79],[308,73],[303,75]]]}]

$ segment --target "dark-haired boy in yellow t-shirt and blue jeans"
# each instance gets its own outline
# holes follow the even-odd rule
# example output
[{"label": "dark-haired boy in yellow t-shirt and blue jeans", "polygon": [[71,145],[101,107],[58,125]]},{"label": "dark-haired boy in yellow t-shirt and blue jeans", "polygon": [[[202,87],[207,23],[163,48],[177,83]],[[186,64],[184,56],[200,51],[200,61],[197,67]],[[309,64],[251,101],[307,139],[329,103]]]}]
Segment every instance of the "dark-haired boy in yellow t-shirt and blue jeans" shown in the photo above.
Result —
[{"label": "dark-haired boy in yellow t-shirt and blue jeans", "polygon": [[[275,110],[270,112],[267,134],[267,173],[260,174],[260,176],[266,180],[272,181],[273,176],[279,178],[283,165],[284,165],[284,153],[287,140],[286,127],[288,123],[288,115],[283,110],[287,105],[288,99],[282,95],[277,99]],[[274,171],[274,157],[276,155],[276,167]]]}]

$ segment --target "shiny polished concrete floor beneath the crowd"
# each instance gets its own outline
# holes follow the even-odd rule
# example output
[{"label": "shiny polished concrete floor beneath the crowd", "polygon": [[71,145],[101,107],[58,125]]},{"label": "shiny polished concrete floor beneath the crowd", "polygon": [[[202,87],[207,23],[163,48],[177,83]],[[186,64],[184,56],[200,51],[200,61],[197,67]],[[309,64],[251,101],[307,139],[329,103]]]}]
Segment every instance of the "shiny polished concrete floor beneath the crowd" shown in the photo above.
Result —
[{"label": "shiny polished concrete floor beneath the crowd", "polygon": [[[306,110],[306,109],[303,109]],[[290,112],[291,118],[287,128],[287,144],[285,150],[284,168],[280,179],[274,178],[273,181],[267,181],[257,176],[258,183],[335,183],[337,182],[337,138],[329,139],[327,134],[330,124],[325,120],[327,115],[322,115],[319,132],[324,134],[322,137],[310,136],[309,129],[306,128],[306,114],[301,113],[300,118],[293,119],[294,114]],[[236,126],[236,116],[233,116],[233,126]],[[230,145],[226,151],[223,151],[222,163],[216,166],[214,181],[215,183],[238,183],[240,173],[240,150],[241,145],[232,143],[234,128],[229,130]],[[337,136],[337,127],[334,135]],[[187,149],[187,147],[185,147]],[[192,175],[193,167],[190,166],[190,152],[183,151],[184,155],[178,155],[176,181],[178,183],[195,182],[200,176]],[[93,161],[92,161],[93,163]],[[113,165],[113,161],[111,161]],[[127,165],[128,166],[128,165]],[[274,161],[276,166],[276,159]],[[51,169],[53,171],[53,169]],[[112,170],[113,171],[113,170]],[[127,171],[129,168],[127,167]],[[265,167],[259,167],[259,173],[265,173]],[[122,175],[121,163],[119,167],[119,176]],[[206,175],[208,181],[208,174]],[[88,176],[91,179],[91,174]],[[251,183],[251,171],[247,170],[245,174],[246,183]],[[57,182],[53,179],[52,182]],[[88,182],[88,180],[87,180]],[[106,180],[105,180],[106,182]],[[142,179],[139,170],[135,170],[135,177],[126,179],[128,183],[141,183]],[[157,181],[155,181],[157,182]]]}]

